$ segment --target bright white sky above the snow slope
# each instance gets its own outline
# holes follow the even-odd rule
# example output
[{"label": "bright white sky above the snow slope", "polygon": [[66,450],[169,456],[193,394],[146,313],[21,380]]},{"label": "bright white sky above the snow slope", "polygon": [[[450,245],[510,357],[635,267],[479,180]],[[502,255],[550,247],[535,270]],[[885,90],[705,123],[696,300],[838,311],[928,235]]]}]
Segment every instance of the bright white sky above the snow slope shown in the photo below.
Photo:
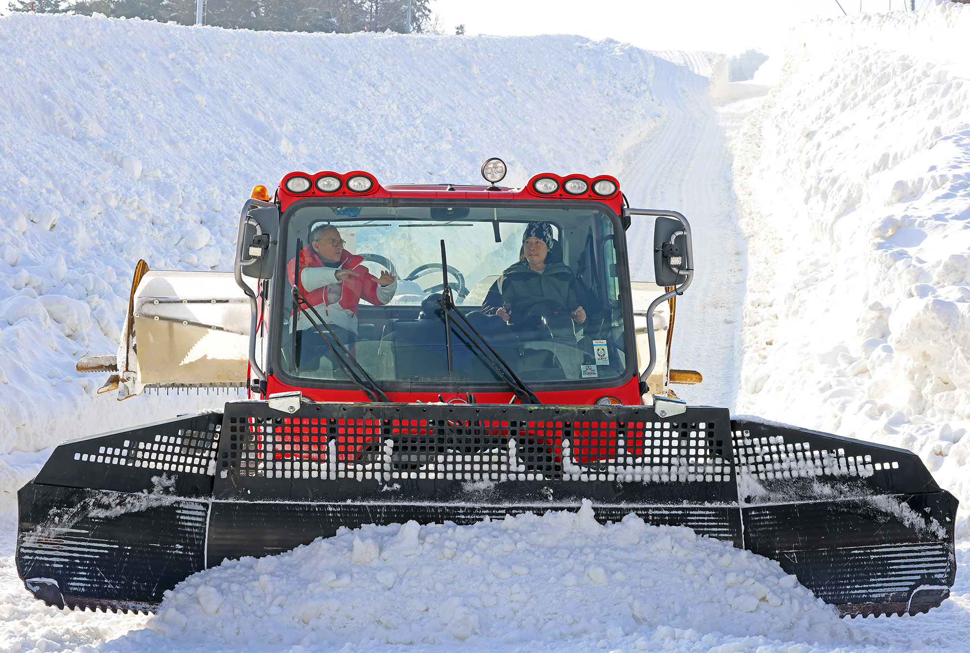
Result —
[{"label": "bright white sky above the snow slope", "polygon": [[[933,0],[916,0],[919,10]],[[838,0],[850,14],[903,11],[910,0]],[[645,49],[772,51],[803,20],[842,16],[836,0],[432,0],[445,34],[578,34]]]}]

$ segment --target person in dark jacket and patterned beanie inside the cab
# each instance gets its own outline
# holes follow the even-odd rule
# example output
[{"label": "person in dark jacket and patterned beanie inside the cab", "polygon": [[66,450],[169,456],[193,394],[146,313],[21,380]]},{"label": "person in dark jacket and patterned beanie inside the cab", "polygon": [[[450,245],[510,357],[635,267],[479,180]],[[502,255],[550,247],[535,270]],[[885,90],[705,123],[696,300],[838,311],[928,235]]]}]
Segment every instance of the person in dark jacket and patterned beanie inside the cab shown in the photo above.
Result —
[{"label": "person in dark jacket and patterned beanie inside the cab", "polygon": [[482,312],[498,315],[514,326],[531,326],[540,318],[572,318],[581,325],[586,311],[582,290],[572,269],[563,263],[562,245],[553,237],[548,222],[531,222],[522,234],[522,256],[509,265],[493,285]]}]

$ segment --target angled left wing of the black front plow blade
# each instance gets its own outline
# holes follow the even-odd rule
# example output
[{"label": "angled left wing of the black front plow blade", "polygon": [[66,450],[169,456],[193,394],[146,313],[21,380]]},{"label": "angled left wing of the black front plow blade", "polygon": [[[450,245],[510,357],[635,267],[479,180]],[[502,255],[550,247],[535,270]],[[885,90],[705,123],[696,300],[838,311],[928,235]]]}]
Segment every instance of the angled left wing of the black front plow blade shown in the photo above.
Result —
[{"label": "angled left wing of the black front plow blade", "polygon": [[49,606],[148,610],[205,569],[219,414],[57,447],[19,491],[16,567]]}]

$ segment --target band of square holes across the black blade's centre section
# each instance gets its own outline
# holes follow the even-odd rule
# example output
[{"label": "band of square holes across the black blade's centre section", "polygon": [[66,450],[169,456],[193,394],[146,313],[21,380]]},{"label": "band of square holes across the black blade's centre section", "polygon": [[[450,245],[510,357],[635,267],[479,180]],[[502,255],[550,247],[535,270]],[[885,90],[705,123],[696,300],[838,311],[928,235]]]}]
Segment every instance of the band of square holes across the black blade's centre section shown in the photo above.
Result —
[{"label": "band of square holes across the black blade's centre section", "polygon": [[[266,405],[227,411],[220,478],[730,482],[727,416],[661,420],[645,408]],[[438,414],[429,416],[428,412]],[[328,415],[329,413],[329,415]],[[467,415],[474,413],[475,419]],[[498,415],[496,415],[498,414]],[[578,419],[577,419],[578,418]],[[632,418],[632,419],[630,419]]]}]

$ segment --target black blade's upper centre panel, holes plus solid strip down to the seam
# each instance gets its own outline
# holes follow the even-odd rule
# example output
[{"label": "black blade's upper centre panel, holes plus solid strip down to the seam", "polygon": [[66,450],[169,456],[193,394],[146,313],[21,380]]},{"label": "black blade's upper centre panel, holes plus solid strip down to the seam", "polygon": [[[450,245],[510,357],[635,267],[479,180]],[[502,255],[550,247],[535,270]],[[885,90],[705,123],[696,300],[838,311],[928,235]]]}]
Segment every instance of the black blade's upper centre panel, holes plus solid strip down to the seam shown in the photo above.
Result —
[{"label": "black blade's upper centre panel, holes plus solid strip down to the seam", "polygon": [[459,501],[477,493],[547,504],[657,493],[671,503],[735,505],[728,427],[727,411],[711,408],[663,420],[640,406],[305,404],[288,415],[230,403],[216,498],[245,487],[268,499]]}]

